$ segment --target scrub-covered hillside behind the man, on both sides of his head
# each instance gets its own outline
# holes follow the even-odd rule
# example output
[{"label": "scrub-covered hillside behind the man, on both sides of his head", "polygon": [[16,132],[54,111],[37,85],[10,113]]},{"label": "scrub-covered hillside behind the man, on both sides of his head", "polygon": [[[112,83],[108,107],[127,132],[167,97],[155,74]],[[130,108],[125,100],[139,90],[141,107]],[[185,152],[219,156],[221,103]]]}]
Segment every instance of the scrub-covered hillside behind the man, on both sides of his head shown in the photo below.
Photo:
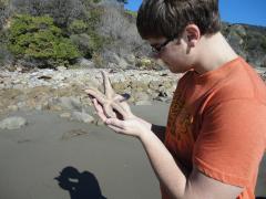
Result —
[{"label": "scrub-covered hillside behind the man, on both sides of his head", "polygon": [[[162,70],[124,1],[1,0],[0,64],[32,67]],[[266,67],[266,28],[223,23],[223,34],[255,67]]]}]

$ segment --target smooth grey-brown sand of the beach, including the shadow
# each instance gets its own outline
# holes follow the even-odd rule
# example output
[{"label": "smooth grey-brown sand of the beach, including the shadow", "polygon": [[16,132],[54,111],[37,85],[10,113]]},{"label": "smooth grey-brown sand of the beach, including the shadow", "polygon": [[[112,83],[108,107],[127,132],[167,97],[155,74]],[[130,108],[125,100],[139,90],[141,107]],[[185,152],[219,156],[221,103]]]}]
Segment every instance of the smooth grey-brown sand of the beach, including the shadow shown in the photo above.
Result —
[{"label": "smooth grey-brown sand of the beach, including the shadow", "polygon": [[[132,106],[165,125],[168,104]],[[160,199],[141,143],[105,126],[71,122],[53,112],[14,112],[28,125],[0,130],[0,199]],[[2,118],[1,118],[2,119]],[[257,195],[266,197],[266,159]]]}]

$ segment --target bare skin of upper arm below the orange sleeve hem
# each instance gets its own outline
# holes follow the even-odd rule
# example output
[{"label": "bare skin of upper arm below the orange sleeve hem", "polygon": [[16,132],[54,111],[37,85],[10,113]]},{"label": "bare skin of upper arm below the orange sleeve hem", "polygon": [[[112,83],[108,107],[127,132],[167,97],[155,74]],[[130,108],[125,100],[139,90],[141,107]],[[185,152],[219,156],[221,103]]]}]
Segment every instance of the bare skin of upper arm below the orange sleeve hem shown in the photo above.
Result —
[{"label": "bare skin of upper arm below the orange sleeve hem", "polygon": [[187,179],[184,199],[235,199],[244,190],[242,187],[215,180],[201,172],[194,166]]}]

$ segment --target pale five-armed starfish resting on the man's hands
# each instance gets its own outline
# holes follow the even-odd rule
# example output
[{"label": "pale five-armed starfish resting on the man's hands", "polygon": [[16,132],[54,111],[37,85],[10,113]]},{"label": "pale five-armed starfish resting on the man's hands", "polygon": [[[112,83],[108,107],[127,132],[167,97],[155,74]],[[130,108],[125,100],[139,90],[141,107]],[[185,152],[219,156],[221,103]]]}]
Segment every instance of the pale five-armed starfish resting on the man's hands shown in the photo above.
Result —
[{"label": "pale five-armed starfish resting on the man's hands", "polygon": [[98,102],[103,106],[103,111],[106,117],[116,117],[116,114],[120,114],[123,118],[129,116],[129,105],[121,103],[126,97],[117,95],[109,80],[106,72],[101,71],[103,76],[103,87],[104,94],[94,88],[88,88],[85,92],[93,98],[96,98]]}]

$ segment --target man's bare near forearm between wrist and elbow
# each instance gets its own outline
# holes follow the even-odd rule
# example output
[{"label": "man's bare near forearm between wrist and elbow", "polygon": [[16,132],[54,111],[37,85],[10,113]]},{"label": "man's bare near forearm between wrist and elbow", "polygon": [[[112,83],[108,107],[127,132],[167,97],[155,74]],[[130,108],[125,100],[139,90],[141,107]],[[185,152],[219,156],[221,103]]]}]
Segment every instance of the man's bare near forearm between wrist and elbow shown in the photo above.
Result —
[{"label": "man's bare near forearm between wrist and elbow", "polygon": [[186,189],[186,177],[170,151],[151,132],[141,134],[139,138],[161,184],[167,188],[173,198],[182,198]]}]

